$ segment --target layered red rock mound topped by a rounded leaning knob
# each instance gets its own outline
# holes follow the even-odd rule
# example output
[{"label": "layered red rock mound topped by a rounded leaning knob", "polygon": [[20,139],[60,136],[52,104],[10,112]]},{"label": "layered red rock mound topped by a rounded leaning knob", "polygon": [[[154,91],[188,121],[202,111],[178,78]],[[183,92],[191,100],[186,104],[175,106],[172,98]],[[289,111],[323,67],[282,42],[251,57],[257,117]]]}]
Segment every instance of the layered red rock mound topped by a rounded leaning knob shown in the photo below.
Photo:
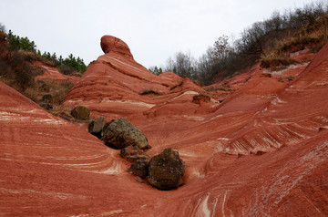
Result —
[{"label": "layered red rock mound topped by a rounded leaning knob", "polygon": [[[90,63],[69,91],[64,102],[67,107],[84,105],[95,117],[108,120],[122,117],[130,120],[136,114],[137,119],[144,119],[144,112],[149,117],[171,115],[188,119],[186,115],[201,113],[204,108],[214,109],[214,102],[201,106],[192,103],[192,97],[204,91],[202,88],[172,72],[152,74],[134,60],[122,40],[103,36],[101,47],[105,54]],[[147,91],[159,95],[141,95]]]}]

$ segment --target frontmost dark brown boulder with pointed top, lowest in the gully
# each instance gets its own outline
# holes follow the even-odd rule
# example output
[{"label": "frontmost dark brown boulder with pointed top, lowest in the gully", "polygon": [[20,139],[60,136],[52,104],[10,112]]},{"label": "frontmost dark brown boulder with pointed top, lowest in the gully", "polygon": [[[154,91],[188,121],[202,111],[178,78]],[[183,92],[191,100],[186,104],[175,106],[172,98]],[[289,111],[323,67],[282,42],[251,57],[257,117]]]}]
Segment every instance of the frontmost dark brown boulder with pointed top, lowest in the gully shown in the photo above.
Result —
[{"label": "frontmost dark brown boulder with pointed top, lowest in the gully", "polygon": [[178,188],[183,184],[184,162],[179,152],[168,148],[149,161],[149,183],[159,190]]}]

